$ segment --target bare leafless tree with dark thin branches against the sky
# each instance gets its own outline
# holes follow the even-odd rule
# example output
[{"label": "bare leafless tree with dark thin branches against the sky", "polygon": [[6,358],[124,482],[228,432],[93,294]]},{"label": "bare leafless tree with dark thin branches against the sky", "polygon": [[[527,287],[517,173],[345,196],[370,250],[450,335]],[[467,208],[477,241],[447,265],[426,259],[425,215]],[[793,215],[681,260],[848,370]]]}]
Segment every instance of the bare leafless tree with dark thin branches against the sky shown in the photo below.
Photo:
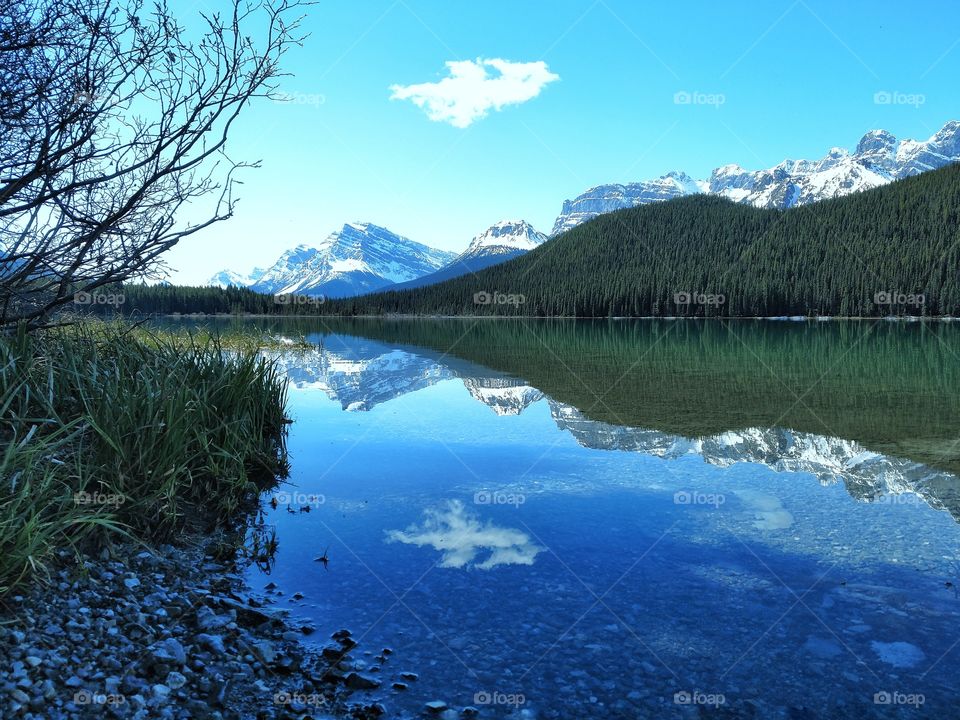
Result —
[{"label": "bare leafless tree with dark thin branches against the sky", "polygon": [[230,217],[236,171],[259,163],[227,136],[275,97],[306,3],[226,4],[185,28],[163,0],[0,0],[0,326],[155,275]]}]

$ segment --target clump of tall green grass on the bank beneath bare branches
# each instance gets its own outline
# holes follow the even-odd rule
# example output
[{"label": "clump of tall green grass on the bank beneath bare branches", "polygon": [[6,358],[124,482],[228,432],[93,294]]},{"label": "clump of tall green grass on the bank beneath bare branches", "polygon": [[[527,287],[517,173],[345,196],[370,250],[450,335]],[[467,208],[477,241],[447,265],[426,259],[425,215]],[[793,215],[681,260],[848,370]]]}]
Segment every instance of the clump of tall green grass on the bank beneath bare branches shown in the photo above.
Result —
[{"label": "clump of tall green grass on the bank beneath bare branches", "polygon": [[64,548],[235,522],[286,468],[260,345],[89,320],[0,336],[0,596]]}]

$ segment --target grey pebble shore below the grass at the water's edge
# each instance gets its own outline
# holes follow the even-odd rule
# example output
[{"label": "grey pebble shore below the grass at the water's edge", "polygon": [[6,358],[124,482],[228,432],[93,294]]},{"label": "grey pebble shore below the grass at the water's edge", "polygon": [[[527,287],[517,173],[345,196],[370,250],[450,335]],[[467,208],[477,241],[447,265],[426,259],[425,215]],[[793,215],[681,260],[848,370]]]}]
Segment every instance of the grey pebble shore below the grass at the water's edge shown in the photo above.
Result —
[{"label": "grey pebble shore below the grass at the water's edge", "polygon": [[[352,702],[379,681],[354,671],[349,631],[314,633],[244,586],[213,541],[114,546],[72,561],[0,608],[0,717],[377,718]],[[373,653],[370,653],[373,654]],[[388,650],[375,663],[387,660]],[[374,664],[373,668],[377,665]]]}]

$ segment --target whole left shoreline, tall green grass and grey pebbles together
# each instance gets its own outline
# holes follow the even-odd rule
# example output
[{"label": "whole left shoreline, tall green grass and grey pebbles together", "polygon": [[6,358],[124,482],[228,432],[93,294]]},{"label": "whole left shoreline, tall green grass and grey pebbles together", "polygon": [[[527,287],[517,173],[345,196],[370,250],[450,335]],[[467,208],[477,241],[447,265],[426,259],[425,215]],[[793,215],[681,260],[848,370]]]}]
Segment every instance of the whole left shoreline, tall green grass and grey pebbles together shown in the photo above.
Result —
[{"label": "whole left shoreline, tall green grass and grey pebbles together", "polygon": [[[0,344],[16,370],[0,387],[14,441],[0,717],[384,714],[347,705],[379,686],[358,674],[349,631],[308,644],[316,628],[244,579],[276,551],[260,509],[286,477],[291,422],[262,339],[238,334],[228,354],[134,328],[78,323]],[[55,422],[38,432],[37,417]]]}]

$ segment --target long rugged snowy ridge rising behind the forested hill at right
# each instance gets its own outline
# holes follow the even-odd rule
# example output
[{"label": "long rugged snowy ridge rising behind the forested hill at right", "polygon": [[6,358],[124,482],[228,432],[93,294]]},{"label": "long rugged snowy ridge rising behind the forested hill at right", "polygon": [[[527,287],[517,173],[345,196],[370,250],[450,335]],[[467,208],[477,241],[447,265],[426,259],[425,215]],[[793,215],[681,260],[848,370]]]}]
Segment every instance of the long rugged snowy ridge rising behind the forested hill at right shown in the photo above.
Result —
[{"label": "long rugged snowy ridge rising behind the forested hill at right", "polygon": [[871,130],[853,152],[832,148],[819,160],[784,160],[766,170],[724,165],[706,180],[680,172],[627,185],[599,185],[567,200],[553,235],[602,213],[709,193],[763,208],[790,208],[849,195],[960,160],[960,122],[951,120],[927,140],[897,140]]}]

